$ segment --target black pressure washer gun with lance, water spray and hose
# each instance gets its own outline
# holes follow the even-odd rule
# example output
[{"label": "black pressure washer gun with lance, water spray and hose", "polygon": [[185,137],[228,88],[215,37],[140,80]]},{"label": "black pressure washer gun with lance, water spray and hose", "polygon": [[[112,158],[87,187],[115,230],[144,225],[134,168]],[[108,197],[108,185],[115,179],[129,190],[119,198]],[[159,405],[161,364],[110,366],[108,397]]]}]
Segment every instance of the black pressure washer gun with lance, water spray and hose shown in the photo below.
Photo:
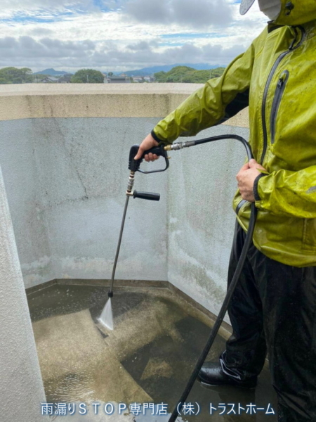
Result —
[{"label": "black pressure washer gun with lance, water spray and hose", "polygon": [[[147,200],[159,200],[160,199],[160,195],[159,193],[150,193],[150,192],[138,192],[138,191],[133,191],[133,185],[134,185],[134,179],[135,179],[135,173],[136,172],[141,172],[143,174],[150,174],[150,173],[157,173],[157,172],[164,172],[168,169],[169,167],[169,158],[167,156],[167,151],[176,151],[176,150],[180,150],[183,148],[188,148],[190,146],[195,146],[195,145],[201,145],[202,143],[209,143],[212,141],[220,141],[222,139],[235,139],[237,141],[242,142],[242,144],[244,145],[244,147],[246,148],[246,154],[248,157],[248,160],[251,160],[251,158],[253,158],[252,153],[251,153],[251,148],[249,146],[249,143],[246,141],[246,139],[242,138],[242,136],[238,136],[238,135],[220,135],[220,136],[211,136],[210,138],[205,138],[205,139],[200,139],[198,141],[187,141],[187,142],[176,142],[173,143],[172,145],[161,145],[159,144],[158,146],[154,147],[154,148],[150,148],[150,150],[145,151],[145,153],[143,153],[143,156],[139,159],[139,160],[134,160],[134,157],[136,156],[136,154],[138,153],[138,145],[133,145],[131,147],[131,151],[129,153],[129,170],[131,171],[129,174],[129,184],[127,186],[127,191],[126,191],[126,202],[125,202],[125,207],[124,207],[124,214],[123,214],[123,219],[121,222],[121,231],[119,234],[119,243],[117,245],[117,253],[115,255],[115,260],[114,260],[114,265],[113,265],[113,271],[112,271],[112,279],[111,279],[111,285],[110,285],[110,290],[108,292],[108,300],[105,304],[105,307],[103,308],[103,312],[100,315],[99,321],[100,324],[103,324],[103,326],[106,326],[107,328],[110,328],[111,330],[113,329],[113,316],[112,316],[112,305],[111,305],[111,298],[113,297],[113,284],[114,284],[114,276],[115,276],[115,269],[117,267],[117,260],[119,257],[119,248],[121,246],[121,238],[123,235],[123,230],[124,230],[124,223],[125,223],[125,217],[126,217],[126,211],[127,211],[127,206],[129,205],[129,198],[131,196],[133,196],[133,198],[141,198],[141,199],[147,199]],[[146,154],[149,153],[153,153],[159,156],[164,157],[165,161],[166,161],[166,167],[164,169],[161,170],[152,170],[150,172],[143,172],[143,170],[140,170],[140,164],[141,162],[143,162],[143,158],[145,157]],[[202,368],[202,365],[204,364],[204,361],[207,357],[207,355],[209,354],[209,350],[211,349],[211,346],[213,345],[213,341],[216,338],[216,335],[218,333],[218,330],[220,328],[220,324],[223,322],[225,313],[228,309],[228,305],[230,303],[230,299],[232,298],[232,293],[234,293],[235,287],[237,285],[237,281],[239,279],[239,276],[242,272],[242,267],[244,266],[244,261],[246,260],[246,254],[249,250],[249,246],[251,245],[251,241],[252,241],[252,236],[254,234],[254,226],[256,223],[256,207],[254,203],[251,203],[251,217],[249,220],[249,227],[248,227],[248,231],[246,234],[246,239],[244,241],[244,247],[242,249],[242,253],[240,255],[239,258],[239,262],[237,264],[236,270],[235,270],[235,274],[232,277],[232,281],[230,282],[230,286],[227,290],[224,302],[222,307],[220,308],[220,312],[218,314],[218,317],[213,325],[213,328],[211,330],[211,334],[209,335],[209,339],[207,340],[207,343],[197,361],[197,364],[195,365],[195,369],[192,372],[192,375],[190,377],[190,380],[188,381],[185,390],[183,391],[183,395],[180,397],[179,401],[178,401],[178,405],[175,407],[175,409],[173,410],[173,413],[171,414],[170,418],[169,418],[169,422],[175,422],[176,418],[178,418],[178,415],[181,412],[181,409],[183,408],[183,404],[185,403],[185,400],[187,399],[187,396],[189,395],[193,384],[195,383],[195,380],[197,378],[197,375],[200,371],[200,369]]]}]

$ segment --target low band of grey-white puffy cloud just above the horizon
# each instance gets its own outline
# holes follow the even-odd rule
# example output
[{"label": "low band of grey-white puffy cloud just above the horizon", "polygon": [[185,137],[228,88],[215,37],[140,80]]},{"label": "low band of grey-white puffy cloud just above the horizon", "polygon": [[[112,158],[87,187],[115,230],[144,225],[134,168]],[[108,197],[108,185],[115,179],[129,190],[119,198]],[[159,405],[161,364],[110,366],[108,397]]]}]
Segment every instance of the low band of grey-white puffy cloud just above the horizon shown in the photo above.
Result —
[{"label": "low band of grey-white puffy cloud just above the horizon", "polygon": [[[93,41],[60,41],[43,38],[36,41],[32,37],[0,39],[0,66],[11,65],[33,68],[39,63],[47,67],[53,63],[54,68],[77,70],[77,68],[97,68],[102,70],[120,70],[127,67],[143,68],[150,65],[166,65],[173,63],[213,63],[219,64],[232,60],[242,52],[240,46],[224,49],[220,44],[206,44],[197,47],[184,44],[180,47],[169,47],[157,51],[156,43],[143,43],[119,49],[107,44],[96,44]],[[49,61],[50,60],[50,61]]]}]

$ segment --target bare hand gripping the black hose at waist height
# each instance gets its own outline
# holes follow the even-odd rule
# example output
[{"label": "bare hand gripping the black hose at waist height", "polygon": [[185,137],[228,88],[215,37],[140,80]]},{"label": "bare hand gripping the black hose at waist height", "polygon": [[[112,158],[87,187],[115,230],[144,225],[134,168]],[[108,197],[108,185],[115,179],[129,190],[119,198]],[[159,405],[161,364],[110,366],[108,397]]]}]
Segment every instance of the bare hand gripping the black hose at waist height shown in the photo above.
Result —
[{"label": "bare hand gripping the black hose at waist height", "polygon": [[261,174],[258,169],[265,170],[262,165],[256,162],[256,160],[252,159],[242,166],[236,176],[239,192],[242,195],[242,199],[249,200],[249,202],[255,202],[254,181],[256,177]]}]

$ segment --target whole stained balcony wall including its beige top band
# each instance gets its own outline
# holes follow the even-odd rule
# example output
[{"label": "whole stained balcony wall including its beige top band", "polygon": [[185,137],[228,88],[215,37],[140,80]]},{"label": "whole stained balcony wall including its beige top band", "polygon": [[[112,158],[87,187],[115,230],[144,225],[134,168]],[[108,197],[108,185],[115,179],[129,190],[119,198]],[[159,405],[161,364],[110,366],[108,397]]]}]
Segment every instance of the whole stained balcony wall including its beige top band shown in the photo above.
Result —
[{"label": "whole stained balcony wall including its beige top band", "polygon": [[[25,286],[110,279],[129,148],[197,87],[0,88],[0,164]],[[247,126],[245,111],[200,135],[247,137]],[[137,190],[157,191],[162,199],[130,200],[117,278],[169,280],[216,312],[225,293],[231,198],[244,151],[236,141],[221,141],[171,155],[168,172],[136,175]]]}]

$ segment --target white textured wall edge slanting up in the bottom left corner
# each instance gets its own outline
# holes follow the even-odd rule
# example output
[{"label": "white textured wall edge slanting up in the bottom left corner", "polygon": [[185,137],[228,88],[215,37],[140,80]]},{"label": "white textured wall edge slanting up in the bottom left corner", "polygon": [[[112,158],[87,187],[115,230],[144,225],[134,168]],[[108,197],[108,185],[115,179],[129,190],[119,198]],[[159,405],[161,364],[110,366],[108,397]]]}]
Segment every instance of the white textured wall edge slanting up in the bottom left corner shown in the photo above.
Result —
[{"label": "white textured wall edge slanting up in the bottom left corner", "polygon": [[45,393],[0,170],[1,421],[42,421]]}]

